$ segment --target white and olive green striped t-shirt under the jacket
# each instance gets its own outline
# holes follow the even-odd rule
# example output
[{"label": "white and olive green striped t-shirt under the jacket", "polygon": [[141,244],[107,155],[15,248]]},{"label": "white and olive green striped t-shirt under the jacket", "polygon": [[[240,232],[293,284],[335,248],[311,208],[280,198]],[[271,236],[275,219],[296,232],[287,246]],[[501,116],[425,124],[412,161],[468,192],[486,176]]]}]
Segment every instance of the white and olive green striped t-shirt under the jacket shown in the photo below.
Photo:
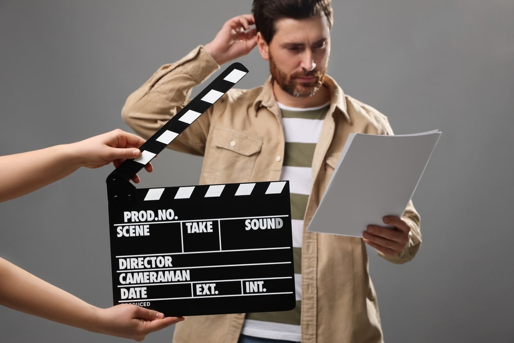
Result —
[{"label": "white and olive green striped t-shirt under the jacket", "polygon": [[323,119],[329,102],[308,109],[279,103],[285,137],[284,164],[281,180],[289,180],[291,193],[291,226],[295,263],[296,308],[291,311],[248,313],[242,333],[248,336],[301,340],[300,311],[302,298],[302,232],[307,200],[312,187],[311,165]]}]

